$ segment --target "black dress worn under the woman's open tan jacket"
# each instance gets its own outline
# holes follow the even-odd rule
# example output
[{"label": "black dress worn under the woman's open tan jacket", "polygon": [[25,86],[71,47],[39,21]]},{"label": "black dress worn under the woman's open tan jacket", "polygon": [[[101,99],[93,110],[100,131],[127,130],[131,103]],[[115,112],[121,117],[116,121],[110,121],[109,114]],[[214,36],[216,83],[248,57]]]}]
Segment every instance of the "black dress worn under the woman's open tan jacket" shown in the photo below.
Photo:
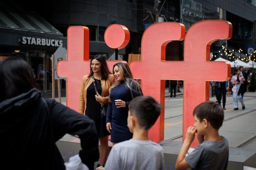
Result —
[{"label": "black dress worn under the woman's open tan jacket", "polygon": [[[101,81],[95,79],[95,84],[96,84],[96,89],[97,92],[101,95]],[[95,99],[95,88],[93,83],[87,88],[87,94],[86,94],[86,110],[85,110],[85,115],[90,117],[91,119],[94,120],[96,129],[98,132],[98,137],[102,138],[105,136],[110,135],[110,133],[107,131],[106,128],[106,116],[105,117],[100,117],[100,103],[96,101]],[[107,107],[107,106],[103,106]]]}]

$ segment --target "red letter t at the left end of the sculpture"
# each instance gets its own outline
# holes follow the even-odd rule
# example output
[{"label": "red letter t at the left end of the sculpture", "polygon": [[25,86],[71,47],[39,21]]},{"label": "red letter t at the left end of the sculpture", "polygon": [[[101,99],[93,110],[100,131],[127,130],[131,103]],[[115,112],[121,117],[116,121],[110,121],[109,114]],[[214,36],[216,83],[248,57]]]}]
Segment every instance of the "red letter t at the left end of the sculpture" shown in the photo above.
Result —
[{"label": "red letter t at the left end of the sculpture", "polygon": [[[113,65],[117,62],[120,61],[107,61],[110,71],[112,71]],[[57,74],[60,77],[67,77],[67,106],[78,111],[79,92],[82,77],[83,75],[90,74],[88,27],[70,26],[68,28],[67,60],[58,62]]]}]

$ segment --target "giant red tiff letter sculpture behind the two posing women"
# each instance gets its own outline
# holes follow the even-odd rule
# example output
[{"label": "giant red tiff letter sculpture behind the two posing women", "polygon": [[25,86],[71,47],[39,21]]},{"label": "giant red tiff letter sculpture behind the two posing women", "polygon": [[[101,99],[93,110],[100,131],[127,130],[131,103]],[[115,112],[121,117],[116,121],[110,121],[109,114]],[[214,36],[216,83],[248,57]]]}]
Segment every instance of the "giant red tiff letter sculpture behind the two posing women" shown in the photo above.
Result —
[{"label": "giant red tiff letter sculpture behind the two posing women", "polygon": [[[112,26],[105,32],[105,41],[111,47],[113,45],[112,48],[123,48],[123,44],[128,43],[128,29],[123,25]],[[123,28],[124,32],[117,35],[117,32],[113,33],[114,27]],[[116,39],[111,39],[112,34]],[[230,78],[229,63],[210,61],[210,45],[216,40],[230,39],[231,36],[232,25],[224,20],[197,22],[188,29],[186,37],[185,27],[181,23],[156,23],[149,26],[142,36],[141,61],[133,61],[130,68],[134,78],[141,79],[143,93],[156,98],[164,108],[164,81],[184,80],[183,140],[187,127],[194,124],[194,108],[209,100],[209,81]],[[184,61],[165,61],[166,44],[184,38]],[[120,61],[107,61],[110,70],[116,62]],[[57,72],[59,76],[67,77],[67,106],[74,110],[78,110],[81,78],[90,72],[89,63],[89,29],[85,26],[69,27],[67,61],[58,63]],[[163,141],[164,110],[151,128],[149,137],[155,142]],[[195,140],[192,146],[196,145]]]}]

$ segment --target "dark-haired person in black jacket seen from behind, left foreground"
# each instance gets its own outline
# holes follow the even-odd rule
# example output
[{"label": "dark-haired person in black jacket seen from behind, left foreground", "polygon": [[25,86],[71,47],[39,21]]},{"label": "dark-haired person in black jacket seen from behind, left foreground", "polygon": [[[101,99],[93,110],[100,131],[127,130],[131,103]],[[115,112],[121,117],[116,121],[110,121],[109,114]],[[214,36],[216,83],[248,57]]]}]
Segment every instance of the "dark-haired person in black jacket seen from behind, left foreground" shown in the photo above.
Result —
[{"label": "dark-haired person in black jacket seen from behind, left foreground", "polygon": [[66,133],[79,135],[79,156],[90,169],[98,160],[96,127],[89,117],[44,99],[31,67],[22,59],[0,65],[0,160],[5,169],[65,169],[55,144]]}]

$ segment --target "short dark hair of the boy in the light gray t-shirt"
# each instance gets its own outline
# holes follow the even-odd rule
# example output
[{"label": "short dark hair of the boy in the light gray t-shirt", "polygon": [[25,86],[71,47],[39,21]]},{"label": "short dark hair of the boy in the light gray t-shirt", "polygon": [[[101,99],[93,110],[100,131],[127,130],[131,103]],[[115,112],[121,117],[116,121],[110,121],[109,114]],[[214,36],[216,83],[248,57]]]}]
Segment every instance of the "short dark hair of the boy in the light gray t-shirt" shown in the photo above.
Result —
[{"label": "short dark hair of the boy in the light gray t-shirt", "polygon": [[161,105],[151,96],[138,96],[129,104],[131,115],[137,118],[139,126],[145,130],[155,124],[161,109]]}]

